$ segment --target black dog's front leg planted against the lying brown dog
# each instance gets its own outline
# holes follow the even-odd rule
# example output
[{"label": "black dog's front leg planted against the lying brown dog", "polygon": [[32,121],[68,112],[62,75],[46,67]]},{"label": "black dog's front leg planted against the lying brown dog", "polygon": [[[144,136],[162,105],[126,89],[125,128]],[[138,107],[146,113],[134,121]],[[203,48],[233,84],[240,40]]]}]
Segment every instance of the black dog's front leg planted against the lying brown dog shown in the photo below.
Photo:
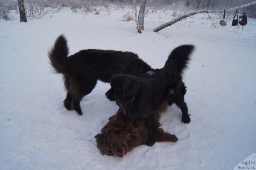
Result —
[{"label": "black dog's front leg planted against the lying brown dog", "polygon": [[155,114],[150,114],[144,120],[145,126],[148,130],[148,139],[146,141],[146,145],[153,146],[156,143],[156,130],[160,126],[160,123],[156,120]]}]

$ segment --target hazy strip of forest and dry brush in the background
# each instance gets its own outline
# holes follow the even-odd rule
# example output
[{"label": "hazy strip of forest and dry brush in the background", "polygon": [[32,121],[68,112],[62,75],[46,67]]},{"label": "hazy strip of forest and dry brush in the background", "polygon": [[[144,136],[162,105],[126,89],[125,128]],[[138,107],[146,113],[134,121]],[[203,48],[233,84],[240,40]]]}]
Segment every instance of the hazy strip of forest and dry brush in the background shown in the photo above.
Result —
[{"label": "hazy strip of forest and dry brush in the background", "polygon": [[[142,0],[136,0],[138,6]],[[247,4],[253,0],[147,0],[146,7],[165,8],[167,10],[220,10]],[[24,0],[26,15],[32,18],[40,18],[47,13],[47,10],[68,7],[73,12],[81,9],[82,12],[94,12],[97,7],[106,7],[114,5],[116,8],[131,7],[132,0]],[[45,10],[47,8],[47,10]],[[11,10],[17,10],[17,0],[1,0],[0,1],[0,18],[11,20]],[[256,18],[256,5],[252,5],[243,9],[248,13],[248,17]]]}]

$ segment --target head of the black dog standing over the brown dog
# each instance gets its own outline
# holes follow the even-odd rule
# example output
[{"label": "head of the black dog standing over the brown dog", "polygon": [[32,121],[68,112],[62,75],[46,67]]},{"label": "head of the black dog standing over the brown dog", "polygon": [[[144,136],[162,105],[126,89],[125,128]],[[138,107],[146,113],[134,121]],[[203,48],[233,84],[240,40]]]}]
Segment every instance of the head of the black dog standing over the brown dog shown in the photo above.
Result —
[{"label": "head of the black dog standing over the brown dog", "polygon": [[140,90],[138,77],[125,74],[114,74],[110,80],[111,88],[106,92],[110,101],[136,96]]}]

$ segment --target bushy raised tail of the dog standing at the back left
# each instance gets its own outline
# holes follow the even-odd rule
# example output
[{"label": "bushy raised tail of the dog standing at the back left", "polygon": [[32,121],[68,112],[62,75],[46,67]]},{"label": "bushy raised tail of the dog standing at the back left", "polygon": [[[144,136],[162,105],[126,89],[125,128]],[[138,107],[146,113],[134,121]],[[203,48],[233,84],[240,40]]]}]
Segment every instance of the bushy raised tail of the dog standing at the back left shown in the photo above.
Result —
[{"label": "bushy raised tail of the dog standing at the back left", "polygon": [[48,52],[48,57],[50,64],[58,73],[66,74],[69,72],[68,45],[63,35],[56,40],[54,47]]}]

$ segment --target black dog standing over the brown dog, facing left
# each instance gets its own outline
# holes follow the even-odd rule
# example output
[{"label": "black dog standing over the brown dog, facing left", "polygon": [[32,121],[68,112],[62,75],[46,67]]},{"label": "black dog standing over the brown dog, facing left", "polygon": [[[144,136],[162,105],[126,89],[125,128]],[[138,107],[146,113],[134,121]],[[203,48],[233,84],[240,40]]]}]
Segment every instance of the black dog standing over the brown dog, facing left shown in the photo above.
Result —
[{"label": "black dog standing over the brown dog, facing left", "polygon": [[112,76],[111,88],[106,92],[106,97],[111,101],[116,100],[124,114],[131,119],[136,117],[145,119],[148,146],[156,142],[155,134],[160,124],[154,115],[163,102],[177,104],[182,110],[182,122],[190,122],[188,107],[184,102],[186,87],[182,82],[182,73],[193,49],[194,46],[191,45],[175,48],[164,67],[150,71],[151,74],[140,77],[124,74]]}]

